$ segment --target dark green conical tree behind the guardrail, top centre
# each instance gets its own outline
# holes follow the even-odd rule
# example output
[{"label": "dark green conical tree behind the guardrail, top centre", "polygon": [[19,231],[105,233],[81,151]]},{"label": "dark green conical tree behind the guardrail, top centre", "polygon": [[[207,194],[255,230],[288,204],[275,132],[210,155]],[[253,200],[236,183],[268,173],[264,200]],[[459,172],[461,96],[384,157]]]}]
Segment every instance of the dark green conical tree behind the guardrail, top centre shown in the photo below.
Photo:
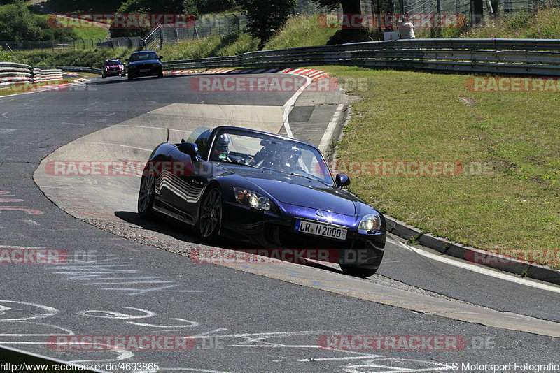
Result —
[{"label": "dark green conical tree behind the guardrail, top centre", "polygon": [[247,17],[249,34],[260,38],[258,49],[262,50],[268,39],[282,28],[293,13],[296,0],[238,0],[237,3]]}]

